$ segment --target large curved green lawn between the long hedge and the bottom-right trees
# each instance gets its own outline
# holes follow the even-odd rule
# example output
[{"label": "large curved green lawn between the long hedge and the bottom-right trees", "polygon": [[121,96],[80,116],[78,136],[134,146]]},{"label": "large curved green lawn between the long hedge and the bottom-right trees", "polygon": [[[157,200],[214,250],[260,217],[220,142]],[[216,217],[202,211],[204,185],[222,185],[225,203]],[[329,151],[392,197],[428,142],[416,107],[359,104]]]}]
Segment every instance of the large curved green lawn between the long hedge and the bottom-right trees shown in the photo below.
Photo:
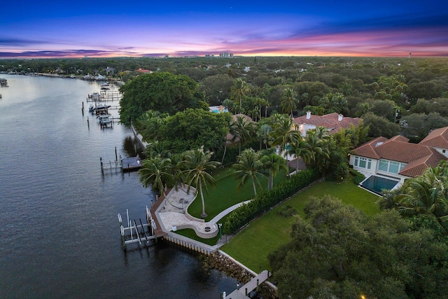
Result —
[{"label": "large curved green lawn between the long hedge and the bottom-right trees", "polygon": [[379,213],[377,201],[380,197],[359,188],[351,181],[314,183],[250,223],[221,249],[255,272],[260,269],[272,270],[269,267],[267,256],[290,241],[291,225],[294,222],[293,216],[284,217],[279,212],[286,209],[286,206],[290,206],[303,217],[303,208],[310,196],[323,197],[327,194],[339,197],[344,203],[352,204],[365,211],[367,215],[373,216]]}]

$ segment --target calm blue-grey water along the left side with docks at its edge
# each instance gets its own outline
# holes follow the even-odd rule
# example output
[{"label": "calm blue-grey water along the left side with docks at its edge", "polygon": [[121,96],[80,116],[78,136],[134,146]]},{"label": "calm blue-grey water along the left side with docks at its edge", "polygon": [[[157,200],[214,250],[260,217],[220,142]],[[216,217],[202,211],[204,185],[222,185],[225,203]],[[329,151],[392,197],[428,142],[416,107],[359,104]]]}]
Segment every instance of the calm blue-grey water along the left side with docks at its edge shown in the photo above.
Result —
[{"label": "calm blue-grey water along the left side with docks at its edge", "polygon": [[[220,298],[236,280],[169,244],[123,251],[117,214],[145,218],[136,172],[99,167],[132,132],[101,129],[97,83],[14,76],[0,88],[0,298]],[[85,113],[81,113],[84,101]],[[118,104],[111,102],[112,105]],[[118,117],[118,111],[111,113]],[[87,118],[90,126],[87,126]],[[127,142],[126,142],[127,141]]]}]

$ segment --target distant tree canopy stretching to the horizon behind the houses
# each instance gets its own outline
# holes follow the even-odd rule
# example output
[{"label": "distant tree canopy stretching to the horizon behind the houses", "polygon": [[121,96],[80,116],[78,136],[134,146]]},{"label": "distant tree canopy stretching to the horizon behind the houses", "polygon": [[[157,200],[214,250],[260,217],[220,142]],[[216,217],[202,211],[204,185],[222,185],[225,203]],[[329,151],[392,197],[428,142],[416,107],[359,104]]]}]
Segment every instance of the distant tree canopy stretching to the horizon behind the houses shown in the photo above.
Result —
[{"label": "distant tree canopy stretching to the horizon behind the houses", "polygon": [[[370,126],[370,137],[384,130],[419,141],[421,134],[444,123],[435,121],[429,126],[423,121],[426,125],[420,132],[409,132],[403,118],[423,118],[431,112],[447,116],[448,60],[442,57],[113,57],[2,60],[0,64],[0,71],[19,74],[59,70],[66,75],[106,75],[108,68],[113,69],[109,76],[125,82],[141,76],[139,69],[186,75],[197,83],[200,99],[210,105],[228,100],[226,104],[235,103],[232,111],[254,119],[260,119],[260,111],[265,116],[287,113],[281,102],[285,90],[291,90],[294,116],[308,110],[315,114],[339,111],[367,118],[367,125],[378,121]],[[244,90],[237,86],[242,79]],[[238,101],[235,92],[240,92]]]}]

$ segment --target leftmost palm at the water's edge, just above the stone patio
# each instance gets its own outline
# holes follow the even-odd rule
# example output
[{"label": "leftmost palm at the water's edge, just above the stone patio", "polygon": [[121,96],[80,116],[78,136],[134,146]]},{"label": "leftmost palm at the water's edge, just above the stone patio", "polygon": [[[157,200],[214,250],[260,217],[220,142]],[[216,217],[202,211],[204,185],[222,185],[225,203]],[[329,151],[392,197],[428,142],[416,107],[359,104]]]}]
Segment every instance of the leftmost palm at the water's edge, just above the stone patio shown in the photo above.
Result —
[{"label": "leftmost palm at the water's edge, just above the stone patio", "polygon": [[173,183],[174,176],[170,172],[172,161],[169,158],[154,157],[142,160],[142,168],[139,169],[140,181],[145,188],[151,185],[159,195],[165,195],[168,184]]}]

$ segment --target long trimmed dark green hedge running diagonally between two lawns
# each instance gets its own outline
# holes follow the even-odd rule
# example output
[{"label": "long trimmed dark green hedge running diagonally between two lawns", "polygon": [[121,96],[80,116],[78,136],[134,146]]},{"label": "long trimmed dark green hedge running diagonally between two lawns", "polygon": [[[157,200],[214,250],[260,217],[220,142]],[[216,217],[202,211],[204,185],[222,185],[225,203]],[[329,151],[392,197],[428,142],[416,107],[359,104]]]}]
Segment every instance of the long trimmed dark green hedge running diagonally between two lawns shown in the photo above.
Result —
[{"label": "long trimmed dark green hedge running diagonally between two lawns", "polygon": [[243,225],[316,181],[318,177],[319,174],[316,170],[302,170],[282,181],[272,190],[260,193],[256,200],[252,199],[251,202],[243,204],[226,217],[223,223],[223,232],[225,234],[237,232]]}]

